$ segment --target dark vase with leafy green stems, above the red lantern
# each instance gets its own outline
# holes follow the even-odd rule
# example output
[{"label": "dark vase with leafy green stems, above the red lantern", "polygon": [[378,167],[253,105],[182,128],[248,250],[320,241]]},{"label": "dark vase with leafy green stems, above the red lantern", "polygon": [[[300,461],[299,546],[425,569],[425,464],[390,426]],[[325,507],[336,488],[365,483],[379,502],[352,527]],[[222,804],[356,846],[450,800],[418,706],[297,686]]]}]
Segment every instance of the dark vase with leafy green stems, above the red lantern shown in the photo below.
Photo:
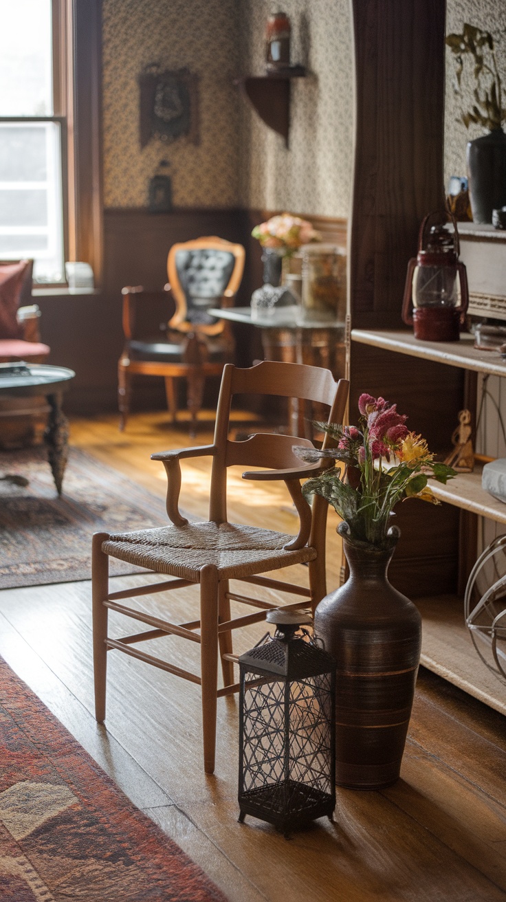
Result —
[{"label": "dark vase with leafy green stems, above the red lantern", "polygon": [[506,134],[501,128],[467,144],[469,198],[475,223],[492,223],[492,210],[506,206]]}]

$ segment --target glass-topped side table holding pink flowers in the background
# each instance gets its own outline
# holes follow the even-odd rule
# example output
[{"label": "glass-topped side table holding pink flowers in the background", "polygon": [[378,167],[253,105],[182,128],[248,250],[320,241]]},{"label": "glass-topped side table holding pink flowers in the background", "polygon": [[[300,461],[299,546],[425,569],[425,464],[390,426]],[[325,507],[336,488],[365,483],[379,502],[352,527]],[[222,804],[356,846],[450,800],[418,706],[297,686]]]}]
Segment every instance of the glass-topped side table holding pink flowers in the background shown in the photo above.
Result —
[{"label": "glass-topped side table holding pink flowers in the background", "polygon": [[[306,319],[299,307],[281,307],[268,315],[253,315],[251,307],[212,309],[212,316],[261,329],[266,360],[322,366],[336,379],[345,375],[345,323],[337,319]],[[310,438],[308,421],[326,419],[306,416],[304,402],[290,400],[289,429],[292,435]]]}]

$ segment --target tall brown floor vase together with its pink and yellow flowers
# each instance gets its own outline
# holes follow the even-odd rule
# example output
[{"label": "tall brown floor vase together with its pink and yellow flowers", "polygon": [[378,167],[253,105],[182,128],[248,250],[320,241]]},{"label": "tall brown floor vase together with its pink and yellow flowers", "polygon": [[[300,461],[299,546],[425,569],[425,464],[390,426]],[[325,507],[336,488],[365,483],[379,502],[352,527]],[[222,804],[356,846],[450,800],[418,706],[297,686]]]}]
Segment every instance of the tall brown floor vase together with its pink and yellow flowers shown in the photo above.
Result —
[{"label": "tall brown floor vase together with its pink and yellow flowers", "polygon": [[419,498],[437,504],[429,479],[455,475],[437,463],[424,438],[383,398],[361,395],[359,427],[318,423],[335,447],[299,448],[334,464],[303,486],[321,495],[342,522],[349,578],[315,612],[315,633],[336,659],[336,783],[378,789],[399,777],[419,668],[421,618],[388,581],[400,530],[395,506]]}]

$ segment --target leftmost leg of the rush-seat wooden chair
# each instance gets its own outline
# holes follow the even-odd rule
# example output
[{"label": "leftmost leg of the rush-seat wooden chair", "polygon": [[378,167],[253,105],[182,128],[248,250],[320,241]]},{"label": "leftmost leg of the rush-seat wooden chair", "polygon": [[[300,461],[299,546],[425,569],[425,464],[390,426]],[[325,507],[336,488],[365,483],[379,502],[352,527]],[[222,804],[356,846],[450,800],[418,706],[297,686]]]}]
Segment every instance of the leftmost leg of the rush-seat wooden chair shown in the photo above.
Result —
[{"label": "leftmost leg of the rush-seat wooden chair", "polygon": [[95,716],[98,723],[106,718],[107,614],[104,605],[109,594],[109,557],[102,551],[108,532],[93,537],[91,579],[93,593],[93,672],[95,677]]}]

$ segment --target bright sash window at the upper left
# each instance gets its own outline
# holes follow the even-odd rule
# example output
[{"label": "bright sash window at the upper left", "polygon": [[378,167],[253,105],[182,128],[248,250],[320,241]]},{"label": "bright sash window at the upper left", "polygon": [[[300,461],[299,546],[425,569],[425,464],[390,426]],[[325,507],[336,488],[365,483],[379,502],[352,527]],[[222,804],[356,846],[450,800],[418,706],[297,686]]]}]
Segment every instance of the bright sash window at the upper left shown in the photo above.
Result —
[{"label": "bright sash window at the upper left", "polygon": [[51,0],[0,0],[0,259],[32,257],[34,280],[51,283],[65,281],[58,12]]}]

